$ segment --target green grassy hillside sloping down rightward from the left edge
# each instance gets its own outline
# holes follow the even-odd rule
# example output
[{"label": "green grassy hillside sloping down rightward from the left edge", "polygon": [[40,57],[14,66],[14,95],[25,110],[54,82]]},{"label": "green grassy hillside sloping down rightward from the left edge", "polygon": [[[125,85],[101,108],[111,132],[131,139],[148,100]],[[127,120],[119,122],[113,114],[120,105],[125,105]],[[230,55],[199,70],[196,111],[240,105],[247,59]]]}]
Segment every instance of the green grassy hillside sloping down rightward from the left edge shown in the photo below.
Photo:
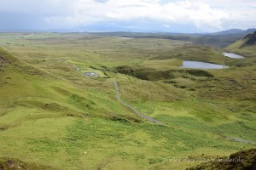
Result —
[{"label": "green grassy hillside sloping down rightward from the left edge", "polygon": [[[45,112],[53,111],[55,116],[71,114],[79,117],[100,116],[99,113],[102,111],[110,113],[113,109],[120,113],[126,111],[121,105],[115,105],[115,99],[102,96],[95,89],[89,88],[85,91],[83,86],[78,85],[79,82],[70,82],[43,71],[17,59],[3,49],[0,51],[0,57],[2,61],[0,95],[3,104],[11,107],[5,107],[3,110],[9,111],[21,107]],[[73,71],[74,80],[83,77],[74,69],[69,71]],[[105,104],[105,101],[113,104],[113,108],[108,109],[108,104]]]}]

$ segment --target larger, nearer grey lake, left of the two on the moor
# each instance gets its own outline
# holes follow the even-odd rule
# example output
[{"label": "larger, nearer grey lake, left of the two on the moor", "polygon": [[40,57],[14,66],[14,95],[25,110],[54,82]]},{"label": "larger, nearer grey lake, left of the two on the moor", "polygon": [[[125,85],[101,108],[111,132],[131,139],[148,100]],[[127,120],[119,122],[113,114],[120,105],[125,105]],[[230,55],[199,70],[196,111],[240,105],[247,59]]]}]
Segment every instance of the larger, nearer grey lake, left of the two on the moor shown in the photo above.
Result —
[{"label": "larger, nearer grey lake, left of the two on the moor", "polygon": [[201,62],[201,61],[183,60],[183,66],[180,66],[180,68],[190,68],[190,69],[224,69],[224,68],[229,68],[229,66],[226,66],[226,65],[216,65],[216,64],[206,63],[206,62]]}]

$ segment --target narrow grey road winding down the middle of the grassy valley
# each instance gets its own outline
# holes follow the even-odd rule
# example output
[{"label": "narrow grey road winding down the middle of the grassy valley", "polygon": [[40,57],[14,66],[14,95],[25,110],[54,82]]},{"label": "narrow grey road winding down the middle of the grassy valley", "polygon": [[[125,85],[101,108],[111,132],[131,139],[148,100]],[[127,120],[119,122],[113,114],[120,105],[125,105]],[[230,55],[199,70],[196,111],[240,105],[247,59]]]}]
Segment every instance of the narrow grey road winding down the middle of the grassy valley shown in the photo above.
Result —
[{"label": "narrow grey road winding down the middle of the grassy valley", "polygon": [[118,99],[121,104],[123,104],[123,105],[125,105],[126,107],[128,107],[129,109],[131,109],[131,111],[133,111],[135,114],[137,114],[137,116],[141,116],[141,117],[143,117],[144,119],[147,119],[147,120],[150,121],[150,122],[154,122],[154,123],[158,123],[158,124],[164,125],[163,122],[160,122],[160,121],[158,121],[158,120],[155,120],[155,119],[152,118],[152,117],[145,116],[145,115],[143,115],[142,113],[140,113],[139,111],[137,111],[136,109],[134,109],[133,107],[131,107],[131,105],[125,103],[125,101],[120,98],[118,83],[117,83],[117,82],[113,82],[113,85],[114,85],[115,90],[116,90],[116,99]]}]

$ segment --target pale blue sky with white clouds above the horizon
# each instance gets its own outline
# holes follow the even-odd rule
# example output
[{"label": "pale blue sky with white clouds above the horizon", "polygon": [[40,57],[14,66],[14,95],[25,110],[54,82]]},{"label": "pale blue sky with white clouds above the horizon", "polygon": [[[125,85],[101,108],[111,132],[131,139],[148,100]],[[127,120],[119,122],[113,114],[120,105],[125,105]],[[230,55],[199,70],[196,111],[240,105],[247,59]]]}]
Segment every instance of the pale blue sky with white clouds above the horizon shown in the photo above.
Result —
[{"label": "pale blue sky with white clouds above the horizon", "polygon": [[0,0],[0,31],[215,32],[256,27],[256,0]]}]

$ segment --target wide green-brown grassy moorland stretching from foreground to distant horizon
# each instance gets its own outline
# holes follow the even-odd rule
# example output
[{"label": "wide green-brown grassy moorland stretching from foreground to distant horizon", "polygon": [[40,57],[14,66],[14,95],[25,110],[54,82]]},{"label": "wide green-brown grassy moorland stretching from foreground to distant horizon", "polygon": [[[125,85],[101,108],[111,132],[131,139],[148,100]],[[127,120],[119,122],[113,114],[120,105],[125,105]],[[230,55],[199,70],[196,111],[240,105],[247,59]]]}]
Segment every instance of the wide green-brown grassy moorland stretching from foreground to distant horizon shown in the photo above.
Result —
[{"label": "wide green-brown grassy moorland stretching from foreground to distant horizon", "polygon": [[[255,148],[226,138],[256,140],[254,52],[228,59],[221,53],[231,48],[89,33],[1,33],[0,46],[1,160],[43,169],[185,169],[201,162],[170,160]],[[230,68],[180,69],[183,59]],[[165,125],[121,105],[114,81],[125,102]]]}]

